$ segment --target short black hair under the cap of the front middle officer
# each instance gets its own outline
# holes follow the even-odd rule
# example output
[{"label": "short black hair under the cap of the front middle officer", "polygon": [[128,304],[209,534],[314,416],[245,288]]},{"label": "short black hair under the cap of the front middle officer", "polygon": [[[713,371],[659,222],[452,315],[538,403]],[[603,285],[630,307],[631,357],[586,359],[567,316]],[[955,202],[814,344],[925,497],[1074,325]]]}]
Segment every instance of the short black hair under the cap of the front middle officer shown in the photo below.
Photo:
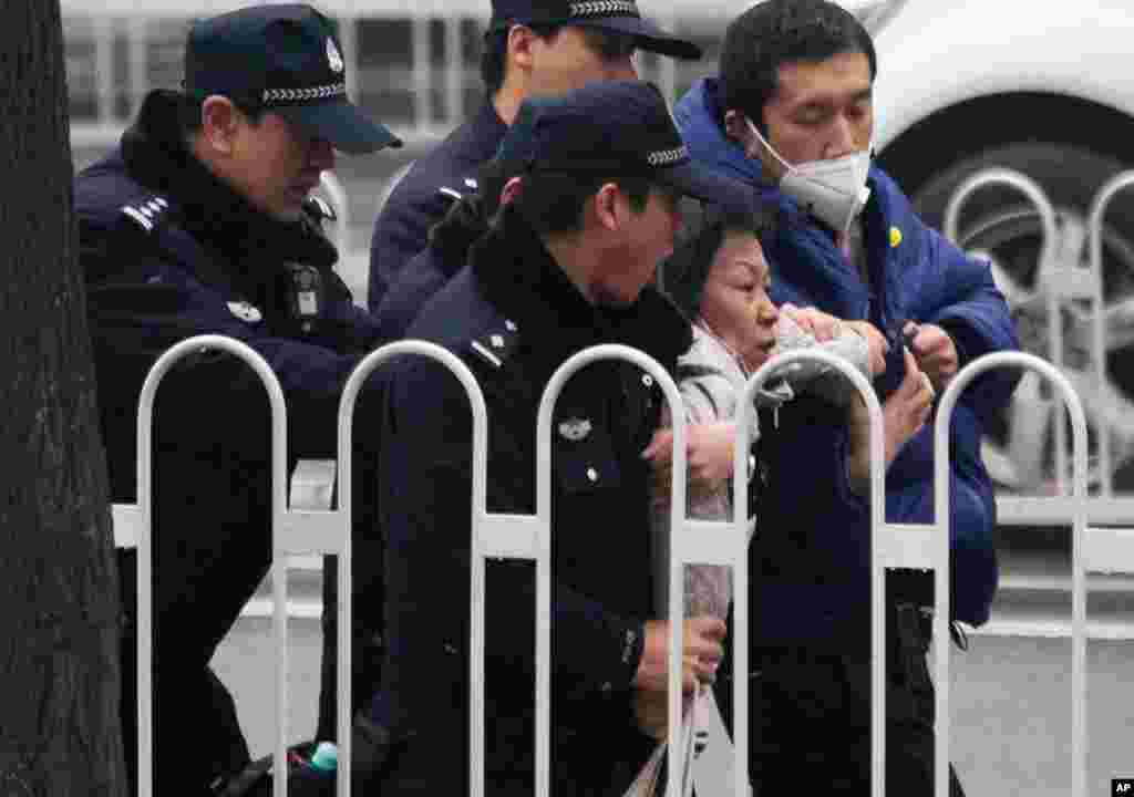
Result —
[{"label": "short black hair under the cap of the front middle officer", "polygon": [[645,210],[653,184],[645,177],[599,176],[577,171],[533,171],[524,176],[524,188],[515,200],[519,213],[538,235],[577,232],[583,206],[608,183],[627,196],[631,210]]}]

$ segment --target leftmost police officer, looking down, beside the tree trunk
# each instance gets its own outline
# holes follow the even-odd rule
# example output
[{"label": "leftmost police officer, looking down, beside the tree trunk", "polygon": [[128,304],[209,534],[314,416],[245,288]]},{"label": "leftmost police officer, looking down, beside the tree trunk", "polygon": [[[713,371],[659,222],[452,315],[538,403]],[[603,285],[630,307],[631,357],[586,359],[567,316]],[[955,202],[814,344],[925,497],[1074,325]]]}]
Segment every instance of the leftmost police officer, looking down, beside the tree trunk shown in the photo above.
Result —
[{"label": "leftmost police officer, looking down, beside the tree trunk", "polygon": [[[329,210],[308,192],[336,150],[397,144],[348,102],[339,41],[312,8],[256,7],[192,27],[184,92],[149,94],[121,145],[75,181],[115,500],[134,497],[146,372],[197,333],[231,336],[268,361],[284,387],[293,459],[335,456],[339,393],[379,337],[332,270],[338,255],[320,228]],[[154,442],[158,794],[220,794],[248,763],[209,660],[270,561],[269,449],[263,388],[234,358],[202,353],[163,382]],[[133,616],[133,554],[119,563]],[[132,627],[125,636],[121,713],[136,780]]]}]

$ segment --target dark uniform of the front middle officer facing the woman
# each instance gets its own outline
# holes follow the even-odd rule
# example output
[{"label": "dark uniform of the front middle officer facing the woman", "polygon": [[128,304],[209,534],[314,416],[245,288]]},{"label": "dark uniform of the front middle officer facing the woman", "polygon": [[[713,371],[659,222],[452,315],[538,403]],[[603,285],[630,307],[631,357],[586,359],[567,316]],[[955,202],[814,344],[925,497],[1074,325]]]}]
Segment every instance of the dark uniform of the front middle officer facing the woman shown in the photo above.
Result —
[{"label": "dark uniform of the front middle officer facing the woman", "polygon": [[[535,424],[543,388],[570,355],[602,342],[665,367],[688,324],[653,289],[623,311],[589,304],[521,212],[508,206],[469,265],[422,310],[409,337],[438,342],[476,375],[489,417],[488,508],[535,509]],[[381,794],[467,790],[471,415],[441,366],[405,361],[389,385],[382,503],[388,529],[389,658],[371,719],[393,739]],[[552,422],[552,778],[558,795],[621,795],[652,741],[632,714],[650,616],[648,464],[659,421],[652,378],[600,363],[565,388]],[[396,502],[396,503],[395,503]],[[488,568],[486,777],[490,794],[530,794],[534,578]]]}]

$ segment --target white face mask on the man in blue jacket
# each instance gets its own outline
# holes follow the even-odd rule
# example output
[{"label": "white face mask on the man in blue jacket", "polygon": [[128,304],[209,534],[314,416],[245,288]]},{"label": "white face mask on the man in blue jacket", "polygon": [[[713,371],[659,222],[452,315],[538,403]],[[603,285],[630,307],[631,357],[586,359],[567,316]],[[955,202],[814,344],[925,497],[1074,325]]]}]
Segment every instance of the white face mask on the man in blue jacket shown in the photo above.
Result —
[{"label": "white face mask on the man in blue jacket", "polygon": [[752,134],[784,166],[780,190],[836,232],[846,232],[870,198],[866,177],[870,173],[872,147],[841,158],[792,166],[760,135],[760,130],[751,119],[745,118],[744,121]]}]

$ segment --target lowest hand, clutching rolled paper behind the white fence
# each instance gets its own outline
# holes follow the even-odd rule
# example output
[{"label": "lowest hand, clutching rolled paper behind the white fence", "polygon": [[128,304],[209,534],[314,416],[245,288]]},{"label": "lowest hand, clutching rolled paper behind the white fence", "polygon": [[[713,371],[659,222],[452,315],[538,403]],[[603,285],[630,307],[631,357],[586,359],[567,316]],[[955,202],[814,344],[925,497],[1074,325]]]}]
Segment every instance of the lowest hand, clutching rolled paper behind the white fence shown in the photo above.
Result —
[{"label": "lowest hand, clutching rolled paper behind the white fence", "polygon": [[[722,642],[727,633],[725,621],[706,614],[684,622],[682,641],[682,692],[689,694],[697,682],[712,684],[717,667],[725,655]],[[646,693],[666,694],[669,688],[669,621],[650,620],[645,624],[645,645],[642,661],[632,686]]]}]

